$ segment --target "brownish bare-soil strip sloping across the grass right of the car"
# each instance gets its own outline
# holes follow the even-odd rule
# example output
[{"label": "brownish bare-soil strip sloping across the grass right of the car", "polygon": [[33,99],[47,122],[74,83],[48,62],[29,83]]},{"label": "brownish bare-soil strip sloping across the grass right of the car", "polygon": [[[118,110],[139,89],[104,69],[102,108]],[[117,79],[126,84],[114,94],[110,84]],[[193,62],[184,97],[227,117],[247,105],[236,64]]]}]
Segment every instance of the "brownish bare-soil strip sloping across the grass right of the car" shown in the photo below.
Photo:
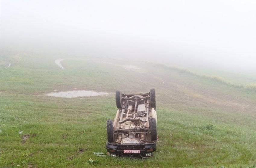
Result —
[{"label": "brownish bare-soil strip sloping across the grass right of the car", "polygon": [[243,96],[246,94],[232,86],[218,82],[207,85],[203,78],[172,71],[163,73],[152,70],[148,74],[153,76],[153,80],[141,74],[137,79],[135,77],[135,81],[141,79],[142,86],[142,83],[150,82],[152,87],[160,91],[158,93],[161,95],[158,95],[158,100],[163,103],[216,108],[230,113],[256,116],[256,99]]}]

